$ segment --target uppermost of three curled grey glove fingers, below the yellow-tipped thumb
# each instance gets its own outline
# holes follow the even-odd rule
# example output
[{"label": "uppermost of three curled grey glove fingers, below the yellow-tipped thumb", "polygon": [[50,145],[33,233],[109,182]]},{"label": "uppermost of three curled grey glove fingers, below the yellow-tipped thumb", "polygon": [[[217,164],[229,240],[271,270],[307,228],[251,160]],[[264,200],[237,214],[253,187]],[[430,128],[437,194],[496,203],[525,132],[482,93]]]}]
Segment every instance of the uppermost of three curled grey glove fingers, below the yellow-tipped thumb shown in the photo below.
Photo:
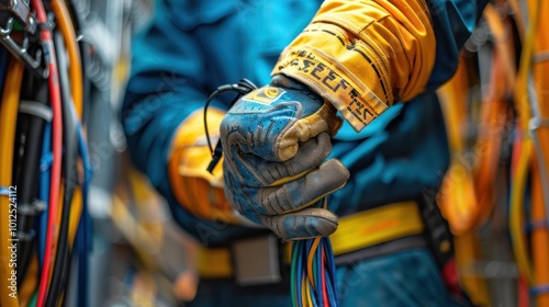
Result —
[{"label": "uppermost of three curled grey glove fingers, below the yellow-tipped thumb", "polygon": [[239,164],[240,170],[248,172],[248,175],[242,178],[245,185],[280,185],[316,168],[330,151],[329,135],[324,133],[303,143],[296,156],[288,161],[271,162],[255,155],[237,155],[235,162]]}]

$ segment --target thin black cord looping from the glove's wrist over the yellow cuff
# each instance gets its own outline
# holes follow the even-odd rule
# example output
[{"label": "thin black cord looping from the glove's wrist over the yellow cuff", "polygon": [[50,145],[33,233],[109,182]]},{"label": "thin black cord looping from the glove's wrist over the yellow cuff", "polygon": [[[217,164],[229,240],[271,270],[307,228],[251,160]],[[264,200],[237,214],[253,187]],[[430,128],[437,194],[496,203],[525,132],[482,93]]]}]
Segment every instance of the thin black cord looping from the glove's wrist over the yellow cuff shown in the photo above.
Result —
[{"label": "thin black cord looping from the glove's wrist over the yellow cuff", "polygon": [[208,130],[208,107],[212,103],[212,101],[224,93],[228,92],[236,92],[237,95],[228,107],[231,109],[240,96],[251,92],[253,90],[257,89],[256,84],[254,84],[251,81],[248,79],[242,79],[240,81],[233,83],[233,84],[225,84],[219,87],[209,98],[208,101],[204,104],[204,129],[205,129],[205,135],[206,135],[206,140],[208,140],[208,147],[210,149],[210,152],[212,152],[212,161],[208,166],[208,171],[210,173],[213,173],[213,169],[215,166],[220,162],[221,157],[223,156],[223,146],[221,145],[221,140],[217,140],[217,144],[215,145],[215,149],[212,148],[212,140],[210,139],[210,132]]}]

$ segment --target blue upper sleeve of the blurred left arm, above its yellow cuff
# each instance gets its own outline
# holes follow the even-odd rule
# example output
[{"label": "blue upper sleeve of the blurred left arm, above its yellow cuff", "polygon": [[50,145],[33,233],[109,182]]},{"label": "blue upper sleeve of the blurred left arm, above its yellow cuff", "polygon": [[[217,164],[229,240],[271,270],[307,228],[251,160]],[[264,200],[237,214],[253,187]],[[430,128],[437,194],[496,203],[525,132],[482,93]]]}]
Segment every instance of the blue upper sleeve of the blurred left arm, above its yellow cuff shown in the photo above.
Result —
[{"label": "blue upper sleeve of the blurred left arm, above its yellow cuff", "polygon": [[122,123],[134,164],[155,186],[167,178],[167,159],[179,125],[202,107],[203,59],[193,37],[181,31],[165,1],[155,19],[132,42],[132,76]]}]

